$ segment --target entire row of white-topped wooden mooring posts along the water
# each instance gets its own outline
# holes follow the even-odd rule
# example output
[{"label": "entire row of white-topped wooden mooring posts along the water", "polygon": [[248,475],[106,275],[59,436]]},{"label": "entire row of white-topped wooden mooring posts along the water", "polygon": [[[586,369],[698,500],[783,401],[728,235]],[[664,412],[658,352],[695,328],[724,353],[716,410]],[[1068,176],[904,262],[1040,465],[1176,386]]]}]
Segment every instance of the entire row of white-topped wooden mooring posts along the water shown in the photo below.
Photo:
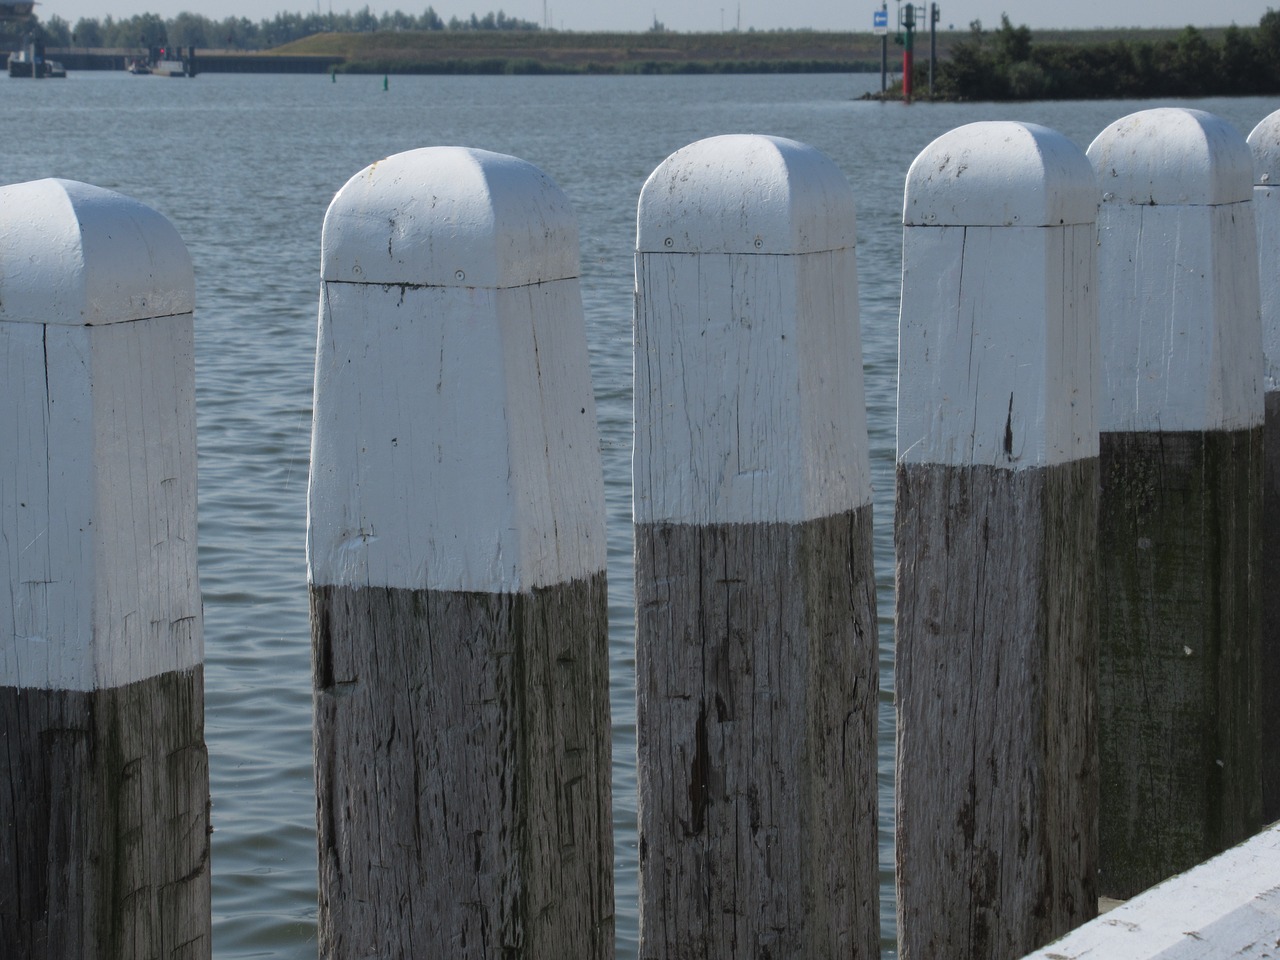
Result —
[{"label": "entire row of white-topped wooden mooring posts along the water", "polygon": [[[1280,808],[1280,122],[1253,147],[1147,110],[1087,154],[970,124],[908,173],[904,960],[1019,957]],[[209,956],[191,264],[118,195],[0,198],[0,955]],[[755,136],[640,195],[646,960],[878,955],[854,206]],[[572,211],[524,161],[411,151],[337,195],[321,264],[320,955],[611,957]]]}]

